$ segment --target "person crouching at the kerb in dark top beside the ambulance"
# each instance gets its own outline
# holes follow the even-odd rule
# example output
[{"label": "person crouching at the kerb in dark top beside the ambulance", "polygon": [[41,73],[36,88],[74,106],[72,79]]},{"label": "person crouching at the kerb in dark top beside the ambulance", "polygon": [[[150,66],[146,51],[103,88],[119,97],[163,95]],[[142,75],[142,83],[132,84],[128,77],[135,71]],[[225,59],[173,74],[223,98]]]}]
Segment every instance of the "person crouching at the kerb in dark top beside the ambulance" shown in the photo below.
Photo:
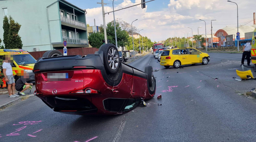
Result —
[{"label": "person crouching at the kerb in dark top beside the ambulance", "polygon": [[21,78],[19,78],[17,81],[16,81],[16,85],[15,85],[15,89],[18,92],[18,95],[22,95],[22,96],[25,96],[26,94],[24,93],[24,91],[26,91],[27,89],[30,89],[32,88],[31,85],[33,85],[33,83],[27,83],[26,80],[29,78],[29,74],[24,72],[23,76],[21,76]]}]

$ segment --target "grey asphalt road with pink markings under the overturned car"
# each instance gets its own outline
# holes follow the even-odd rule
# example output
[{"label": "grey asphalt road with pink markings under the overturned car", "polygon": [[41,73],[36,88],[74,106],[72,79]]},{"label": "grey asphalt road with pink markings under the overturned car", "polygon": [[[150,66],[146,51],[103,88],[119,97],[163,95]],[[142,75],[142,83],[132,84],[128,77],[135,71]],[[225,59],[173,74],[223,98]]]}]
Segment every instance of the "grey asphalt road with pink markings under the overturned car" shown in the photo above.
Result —
[{"label": "grey asphalt road with pink markings under the overturned car", "polygon": [[56,113],[35,96],[19,102],[0,111],[0,141],[256,141],[256,100],[239,95],[254,88],[255,80],[233,79],[239,79],[235,70],[241,70],[242,54],[210,57],[207,65],[179,69],[165,69],[152,54],[131,62],[142,71],[159,70],[153,72],[157,91],[146,107],[123,115]]}]

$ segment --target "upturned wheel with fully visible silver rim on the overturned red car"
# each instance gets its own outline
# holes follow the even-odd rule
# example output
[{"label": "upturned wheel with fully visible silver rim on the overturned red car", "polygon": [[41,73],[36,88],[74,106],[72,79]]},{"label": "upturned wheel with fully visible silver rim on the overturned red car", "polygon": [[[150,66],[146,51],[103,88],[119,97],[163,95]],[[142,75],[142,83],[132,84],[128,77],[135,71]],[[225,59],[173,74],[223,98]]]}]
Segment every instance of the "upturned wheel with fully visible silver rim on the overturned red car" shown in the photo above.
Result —
[{"label": "upturned wheel with fully visible silver rim on the overturned red car", "polygon": [[[107,73],[114,74],[121,66],[118,49],[114,44],[103,44],[99,51],[103,51],[104,68]],[[110,61],[110,63],[108,62]]]}]

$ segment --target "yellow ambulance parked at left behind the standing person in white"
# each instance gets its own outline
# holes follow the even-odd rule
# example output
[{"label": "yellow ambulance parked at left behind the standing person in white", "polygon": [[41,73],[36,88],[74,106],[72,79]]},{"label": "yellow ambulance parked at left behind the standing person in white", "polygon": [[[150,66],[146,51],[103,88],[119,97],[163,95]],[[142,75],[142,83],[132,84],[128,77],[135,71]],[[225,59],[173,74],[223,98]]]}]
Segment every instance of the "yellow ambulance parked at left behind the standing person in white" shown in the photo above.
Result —
[{"label": "yellow ambulance parked at left behind the standing person in white", "polygon": [[29,73],[29,80],[27,82],[35,81],[35,74],[33,68],[36,60],[23,49],[0,49],[0,58],[3,55],[13,55],[13,62],[11,63],[13,75],[21,76],[24,71]]}]

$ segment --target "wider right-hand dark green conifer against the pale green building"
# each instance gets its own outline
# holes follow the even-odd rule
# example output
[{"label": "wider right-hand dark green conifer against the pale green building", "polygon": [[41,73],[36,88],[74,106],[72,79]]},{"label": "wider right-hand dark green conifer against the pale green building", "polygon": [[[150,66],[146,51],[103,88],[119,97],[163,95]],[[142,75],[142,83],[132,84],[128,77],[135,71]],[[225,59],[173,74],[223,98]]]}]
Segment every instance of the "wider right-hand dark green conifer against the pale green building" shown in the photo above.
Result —
[{"label": "wider right-hand dark green conifer against the pale green building", "polygon": [[9,27],[9,32],[7,35],[7,43],[8,46],[5,46],[6,49],[15,49],[15,48],[19,48],[22,49],[22,41],[21,41],[21,37],[18,34],[21,25],[19,23],[15,23],[15,21],[12,19],[12,17],[10,16],[10,27]]}]

